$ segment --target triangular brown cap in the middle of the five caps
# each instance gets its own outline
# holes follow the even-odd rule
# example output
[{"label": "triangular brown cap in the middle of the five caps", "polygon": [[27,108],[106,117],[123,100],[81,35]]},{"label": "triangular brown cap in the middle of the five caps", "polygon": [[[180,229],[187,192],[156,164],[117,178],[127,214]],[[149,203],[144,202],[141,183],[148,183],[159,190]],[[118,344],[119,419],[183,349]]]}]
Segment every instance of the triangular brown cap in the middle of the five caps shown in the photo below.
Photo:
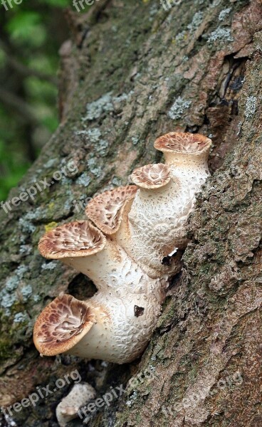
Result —
[{"label": "triangular brown cap in the middle of the five caps", "polygon": [[137,186],[127,185],[98,194],[86,206],[85,214],[103,233],[114,234],[120,228],[125,203],[133,199],[136,192]]}]

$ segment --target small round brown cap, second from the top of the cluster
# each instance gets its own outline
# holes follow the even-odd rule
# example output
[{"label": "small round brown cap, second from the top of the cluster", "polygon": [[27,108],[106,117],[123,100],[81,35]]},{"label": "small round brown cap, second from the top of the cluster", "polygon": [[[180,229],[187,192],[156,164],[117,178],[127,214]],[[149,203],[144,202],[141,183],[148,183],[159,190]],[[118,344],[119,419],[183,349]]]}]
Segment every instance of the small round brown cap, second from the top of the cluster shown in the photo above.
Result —
[{"label": "small round brown cap, second from the top of the cluster", "polygon": [[131,179],[142,189],[158,189],[167,185],[171,179],[171,170],[167,164],[146,164],[143,167],[135,169]]}]

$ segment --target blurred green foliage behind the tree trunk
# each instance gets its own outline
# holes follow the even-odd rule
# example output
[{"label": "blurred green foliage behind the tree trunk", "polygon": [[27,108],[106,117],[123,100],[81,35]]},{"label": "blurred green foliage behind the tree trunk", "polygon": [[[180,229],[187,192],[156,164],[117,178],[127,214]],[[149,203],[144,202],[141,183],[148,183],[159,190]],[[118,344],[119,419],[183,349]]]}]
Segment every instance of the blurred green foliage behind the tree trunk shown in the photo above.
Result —
[{"label": "blurred green foliage behind the tree trunk", "polygon": [[58,126],[58,50],[70,0],[0,4],[0,201]]}]

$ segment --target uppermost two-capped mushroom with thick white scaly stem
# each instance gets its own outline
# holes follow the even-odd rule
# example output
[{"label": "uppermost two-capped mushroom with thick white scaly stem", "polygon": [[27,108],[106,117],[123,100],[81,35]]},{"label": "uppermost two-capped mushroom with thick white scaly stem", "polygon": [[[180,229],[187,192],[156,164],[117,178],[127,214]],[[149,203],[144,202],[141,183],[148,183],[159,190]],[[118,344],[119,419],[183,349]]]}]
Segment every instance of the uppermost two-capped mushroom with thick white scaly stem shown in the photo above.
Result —
[{"label": "uppermost two-capped mushroom with thick white scaly stem", "polygon": [[163,135],[154,147],[164,153],[167,164],[147,165],[131,176],[140,189],[126,215],[124,209],[117,241],[152,278],[182,268],[187,219],[209,176],[210,146],[211,139],[203,135]]}]

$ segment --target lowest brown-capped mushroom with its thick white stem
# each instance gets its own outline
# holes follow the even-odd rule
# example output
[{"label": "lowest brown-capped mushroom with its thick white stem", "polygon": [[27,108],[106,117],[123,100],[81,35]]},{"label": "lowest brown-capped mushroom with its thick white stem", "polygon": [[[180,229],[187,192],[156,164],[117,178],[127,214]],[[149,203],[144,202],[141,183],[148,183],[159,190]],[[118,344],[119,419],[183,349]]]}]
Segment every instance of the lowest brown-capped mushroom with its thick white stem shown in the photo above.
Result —
[{"label": "lowest brown-capped mushroom with its thick white stem", "polygon": [[[130,269],[131,268],[131,269]],[[127,264],[123,282],[98,291],[87,301],[61,295],[36,320],[38,351],[47,356],[68,352],[86,359],[123,364],[139,357],[161,313],[165,280],[149,278]],[[129,290],[127,290],[129,285]]]}]

